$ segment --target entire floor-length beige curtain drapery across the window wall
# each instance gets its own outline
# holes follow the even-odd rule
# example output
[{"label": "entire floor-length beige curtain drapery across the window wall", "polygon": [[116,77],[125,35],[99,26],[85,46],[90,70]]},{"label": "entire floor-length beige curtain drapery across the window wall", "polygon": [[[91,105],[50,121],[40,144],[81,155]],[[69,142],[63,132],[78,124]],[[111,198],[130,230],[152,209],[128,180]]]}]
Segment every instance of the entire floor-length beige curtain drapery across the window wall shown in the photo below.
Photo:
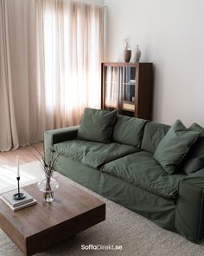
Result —
[{"label": "entire floor-length beige curtain drapery across the window wall", "polygon": [[69,0],[0,0],[0,151],[78,124],[100,107],[104,8]]}]

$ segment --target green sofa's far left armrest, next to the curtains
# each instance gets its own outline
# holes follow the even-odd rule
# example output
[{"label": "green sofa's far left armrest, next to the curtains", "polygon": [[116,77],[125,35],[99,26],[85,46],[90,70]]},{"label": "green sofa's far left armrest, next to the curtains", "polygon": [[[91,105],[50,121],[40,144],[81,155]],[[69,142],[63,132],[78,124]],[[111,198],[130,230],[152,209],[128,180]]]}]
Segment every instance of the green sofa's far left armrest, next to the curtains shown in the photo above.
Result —
[{"label": "green sofa's far left armrest, next to the curtains", "polygon": [[59,128],[44,132],[44,152],[51,150],[54,144],[62,141],[71,141],[76,139],[79,125],[69,128]]}]

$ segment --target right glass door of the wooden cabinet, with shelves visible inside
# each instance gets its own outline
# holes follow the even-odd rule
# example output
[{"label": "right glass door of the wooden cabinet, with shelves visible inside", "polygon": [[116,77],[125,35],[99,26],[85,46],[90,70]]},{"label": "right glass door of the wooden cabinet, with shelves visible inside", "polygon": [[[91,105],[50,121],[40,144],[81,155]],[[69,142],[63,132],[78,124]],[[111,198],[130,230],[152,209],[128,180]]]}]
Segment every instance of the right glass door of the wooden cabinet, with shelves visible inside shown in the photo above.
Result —
[{"label": "right glass door of the wooden cabinet, with shelves visible inside", "polygon": [[136,67],[120,68],[120,109],[136,111]]}]

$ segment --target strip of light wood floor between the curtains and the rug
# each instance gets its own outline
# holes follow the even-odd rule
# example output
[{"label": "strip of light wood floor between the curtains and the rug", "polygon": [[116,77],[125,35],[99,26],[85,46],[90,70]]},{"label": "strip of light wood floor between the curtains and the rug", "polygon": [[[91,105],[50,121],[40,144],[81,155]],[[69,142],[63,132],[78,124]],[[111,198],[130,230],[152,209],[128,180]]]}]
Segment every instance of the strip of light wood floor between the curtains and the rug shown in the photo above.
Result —
[{"label": "strip of light wood floor between the curtains and the rug", "polygon": [[[38,142],[34,144],[41,153],[43,153],[43,143]],[[28,163],[30,161],[37,161],[35,155],[39,155],[36,149],[32,146],[20,147],[16,150],[8,152],[0,152],[0,166],[7,165],[10,167],[16,166],[16,155],[19,155],[19,164]]]}]

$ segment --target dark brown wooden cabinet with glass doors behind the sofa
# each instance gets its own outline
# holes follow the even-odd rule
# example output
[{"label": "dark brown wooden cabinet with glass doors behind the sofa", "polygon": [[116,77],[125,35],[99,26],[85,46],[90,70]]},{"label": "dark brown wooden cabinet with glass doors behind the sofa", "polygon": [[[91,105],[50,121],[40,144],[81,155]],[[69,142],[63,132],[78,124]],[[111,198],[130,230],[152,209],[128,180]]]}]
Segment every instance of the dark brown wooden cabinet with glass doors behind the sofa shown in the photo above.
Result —
[{"label": "dark brown wooden cabinet with glass doors behind the sofa", "polygon": [[151,120],[152,63],[103,62],[101,108]]}]

